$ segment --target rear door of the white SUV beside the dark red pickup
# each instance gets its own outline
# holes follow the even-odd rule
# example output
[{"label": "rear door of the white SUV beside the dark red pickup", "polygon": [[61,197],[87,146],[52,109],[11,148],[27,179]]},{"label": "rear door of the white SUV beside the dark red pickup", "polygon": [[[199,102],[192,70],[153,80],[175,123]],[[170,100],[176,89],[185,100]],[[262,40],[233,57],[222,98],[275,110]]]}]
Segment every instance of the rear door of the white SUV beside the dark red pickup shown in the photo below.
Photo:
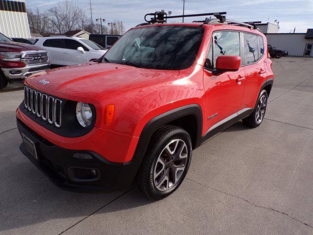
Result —
[{"label": "rear door of the white SUV beside the dark red pickup", "polygon": [[64,40],[62,38],[46,39],[43,48],[48,51],[51,65],[65,65],[64,63]]}]

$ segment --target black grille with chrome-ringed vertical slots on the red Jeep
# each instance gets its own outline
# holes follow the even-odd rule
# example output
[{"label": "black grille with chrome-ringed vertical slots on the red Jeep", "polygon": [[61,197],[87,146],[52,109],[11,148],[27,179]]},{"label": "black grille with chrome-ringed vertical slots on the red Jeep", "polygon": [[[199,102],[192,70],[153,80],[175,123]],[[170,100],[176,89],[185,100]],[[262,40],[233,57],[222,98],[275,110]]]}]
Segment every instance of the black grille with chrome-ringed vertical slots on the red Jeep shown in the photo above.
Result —
[{"label": "black grille with chrome-ringed vertical slots on the red Jeep", "polygon": [[29,87],[24,87],[24,106],[33,115],[44,121],[61,127],[62,100],[51,95],[42,94]]}]

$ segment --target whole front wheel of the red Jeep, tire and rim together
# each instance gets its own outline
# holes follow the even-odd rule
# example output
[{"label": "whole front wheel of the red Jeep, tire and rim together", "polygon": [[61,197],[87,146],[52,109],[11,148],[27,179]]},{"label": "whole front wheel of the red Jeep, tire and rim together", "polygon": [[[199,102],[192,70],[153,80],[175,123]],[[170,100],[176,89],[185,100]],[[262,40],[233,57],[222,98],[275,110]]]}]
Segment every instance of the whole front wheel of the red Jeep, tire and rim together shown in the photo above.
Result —
[{"label": "whole front wheel of the red Jeep, tire and rim together", "polygon": [[154,200],[170,195],[184,180],[191,157],[188,132],[177,126],[161,127],[151,138],[134,181],[135,187]]}]

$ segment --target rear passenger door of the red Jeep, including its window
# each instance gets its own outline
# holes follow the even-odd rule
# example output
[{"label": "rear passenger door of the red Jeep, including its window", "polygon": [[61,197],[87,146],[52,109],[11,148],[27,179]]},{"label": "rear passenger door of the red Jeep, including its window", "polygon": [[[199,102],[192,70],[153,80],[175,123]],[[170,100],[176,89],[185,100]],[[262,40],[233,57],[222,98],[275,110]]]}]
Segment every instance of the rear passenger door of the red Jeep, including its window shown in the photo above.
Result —
[{"label": "rear passenger door of the red Jeep, including its window", "polygon": [[241,109],[254,108],[260,93],[260,88],[266,80],[266,65],[264,56],[264,40],[261,36],[243,34],[243,66],[246,69],[246,87]]}]

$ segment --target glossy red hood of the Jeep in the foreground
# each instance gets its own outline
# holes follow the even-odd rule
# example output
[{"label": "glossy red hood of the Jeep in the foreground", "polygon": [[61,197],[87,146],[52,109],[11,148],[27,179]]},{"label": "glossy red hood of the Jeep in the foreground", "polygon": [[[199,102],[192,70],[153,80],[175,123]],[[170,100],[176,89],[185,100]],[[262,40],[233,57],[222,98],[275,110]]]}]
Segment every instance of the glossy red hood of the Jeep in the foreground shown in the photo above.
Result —
[{"label": "glossy red hood of the Jeep in the foreground", "polygon": [[[88,63],[39,72],[25,80],[37,90],[61,98],[80,101],[100,99],[103,95],[116,95],[128,90],[147,88],[149,85],[168,81],[179,75],[179,71],[161,71],[135,68],[109,63]],[[49,83],[41,84],[46,80]],[[105,95],[105,96],[106,96]],[[88,101],[85,102],[88,102]]]}]

